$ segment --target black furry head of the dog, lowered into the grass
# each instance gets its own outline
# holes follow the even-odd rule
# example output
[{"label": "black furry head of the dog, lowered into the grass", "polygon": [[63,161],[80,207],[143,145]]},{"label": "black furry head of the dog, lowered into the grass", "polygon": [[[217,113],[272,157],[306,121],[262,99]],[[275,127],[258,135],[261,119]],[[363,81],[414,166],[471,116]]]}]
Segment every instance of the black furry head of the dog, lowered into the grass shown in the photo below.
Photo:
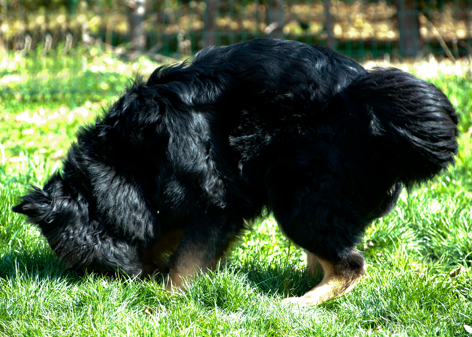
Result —
[{"label": "black furry head of the dog, lowered into the grass", "polygon": [[94,219],[84,195],[67,189],[59,173],[44,189],[32,187],[12,210],[37,224],[52,250],[76,270],[89,267],[110,274],[137,275],[142,269],[136,247],[113,237]]}]

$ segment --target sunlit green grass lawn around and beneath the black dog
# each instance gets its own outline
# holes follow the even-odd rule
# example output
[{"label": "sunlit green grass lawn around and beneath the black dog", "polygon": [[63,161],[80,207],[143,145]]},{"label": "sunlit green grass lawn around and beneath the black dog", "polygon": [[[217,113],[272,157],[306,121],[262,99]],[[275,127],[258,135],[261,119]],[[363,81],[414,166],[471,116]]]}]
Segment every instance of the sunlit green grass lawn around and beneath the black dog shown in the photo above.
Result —
[{"label": "sunlit green grass lawn around and beneath the black dog", "polygon": [[[306,256],[271,218],[256,223],[219,270],[184,294],[169,294],[148,280],[67,270],[11,207],[28,184],[41,186],[60,167],[76,128],[149,61],[133,66],[87,51],[61,62],[33,56],[0,71],[0,78],[27,75],[1,86],[0,336],[471,335],[470,77],[431,79],[459,113],[455,167],[403,191],[395,210],[367,229],[358,248],[369,268],[359,286],[307,309],[283,306],[281,299],[303,294],[320,276],[305,273]],[[38,88],[45,88],[42,95]]]}]

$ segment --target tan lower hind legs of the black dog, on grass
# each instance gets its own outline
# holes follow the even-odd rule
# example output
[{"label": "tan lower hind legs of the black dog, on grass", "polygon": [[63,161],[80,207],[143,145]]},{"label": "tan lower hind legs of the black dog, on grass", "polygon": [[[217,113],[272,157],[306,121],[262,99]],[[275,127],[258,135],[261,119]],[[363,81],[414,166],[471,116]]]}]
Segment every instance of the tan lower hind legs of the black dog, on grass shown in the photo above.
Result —
[{"label": "tan lower hind legs of the black dog, on grass", "polygon": [[308,271],[315,271],[312,263],[314,261],[319,261],[323,268],[324,276],[320,284],[309,290],[305,295],[289,297],[284,302],[307,306],[328,301],[354,289],[365,274],[366,264],[364,259],[354,248],[349,250],[345,259],[334,263],[323,260],[313,253],[308,253]]}]

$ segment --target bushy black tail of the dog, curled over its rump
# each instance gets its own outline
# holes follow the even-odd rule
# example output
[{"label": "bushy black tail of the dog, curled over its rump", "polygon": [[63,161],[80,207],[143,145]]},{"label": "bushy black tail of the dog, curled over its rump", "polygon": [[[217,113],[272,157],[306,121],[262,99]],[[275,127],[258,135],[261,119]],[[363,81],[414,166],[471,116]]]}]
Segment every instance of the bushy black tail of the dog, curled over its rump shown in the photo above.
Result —
[{"label": "bushy black tail of the dog, curled over its rump", "polygon": [[395,68],[374,68],[346,92],[369,111],[370,131],[385,145],[392,171],[409,185],[454,164],[457,115],[433,84]]}]

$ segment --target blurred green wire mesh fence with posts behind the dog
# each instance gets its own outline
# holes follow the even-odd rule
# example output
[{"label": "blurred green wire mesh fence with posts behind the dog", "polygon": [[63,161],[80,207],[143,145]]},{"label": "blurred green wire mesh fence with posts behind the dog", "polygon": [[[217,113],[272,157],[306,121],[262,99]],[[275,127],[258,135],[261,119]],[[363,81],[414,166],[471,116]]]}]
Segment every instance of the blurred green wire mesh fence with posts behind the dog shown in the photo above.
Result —
[{"label": "blurred green wire mesh fence with posts behind the dog", "polygon": [[[320,44],[357,60],[471,51],[472,0],[108,0],[29,9],[0,0],[0,48],[101,42],[176,58],[255,37]],[[72,6],[71,6],[72,4]],[[51,7],[52,6],[52,7]]]}]

